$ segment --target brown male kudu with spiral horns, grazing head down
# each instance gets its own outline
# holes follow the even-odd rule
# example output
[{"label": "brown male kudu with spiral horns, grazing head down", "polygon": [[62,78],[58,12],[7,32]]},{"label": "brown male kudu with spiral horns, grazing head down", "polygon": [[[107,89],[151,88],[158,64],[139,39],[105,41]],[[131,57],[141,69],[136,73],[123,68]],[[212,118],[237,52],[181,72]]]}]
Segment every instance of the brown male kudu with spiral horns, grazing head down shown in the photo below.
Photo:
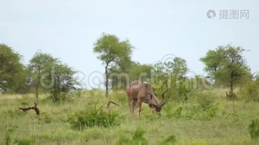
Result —
[{"label": "brown male kudu with spiral horns, grazing head down", "polygon": [[145,102],[149,105],[151,112],[154,112],[155,109],[156,112],[160,115],[161,107],[166,103],[166,100],[164,99],[164,93],[167,90],[168,87],[166,84],[166,90],[162,93],[163,100],[161,103],[159,103],[149,83],[140,81],[130,82],[129,86],[126,89],[126,93],[128,96],[131,117],[134,116],[133,110],[135,104],[137,103],[138,119],[140,118],[142,102]]}]

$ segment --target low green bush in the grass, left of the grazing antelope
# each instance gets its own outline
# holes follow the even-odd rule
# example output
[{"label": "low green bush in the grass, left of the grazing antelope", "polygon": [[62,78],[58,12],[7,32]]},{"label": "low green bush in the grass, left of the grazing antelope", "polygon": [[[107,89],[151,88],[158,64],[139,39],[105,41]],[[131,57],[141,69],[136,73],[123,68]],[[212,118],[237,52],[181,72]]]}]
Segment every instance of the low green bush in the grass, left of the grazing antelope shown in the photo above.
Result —
[{"label": "low green bush in the grass, left of the grazing antelope", "polygon": [[119,125],[118,115],[112,112],[105,112],[102,109],[90,109],[87,112],[76,113],[68,117],[68,123],[73,129],[82,130],[92,127],[113,127]]}]

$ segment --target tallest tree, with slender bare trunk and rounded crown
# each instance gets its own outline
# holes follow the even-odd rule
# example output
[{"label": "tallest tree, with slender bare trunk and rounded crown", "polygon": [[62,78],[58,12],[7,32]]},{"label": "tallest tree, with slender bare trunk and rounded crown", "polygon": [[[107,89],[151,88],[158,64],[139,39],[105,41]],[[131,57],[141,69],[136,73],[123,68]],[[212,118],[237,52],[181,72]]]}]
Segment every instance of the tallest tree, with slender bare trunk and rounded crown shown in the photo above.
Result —
[{"label": "tallest tree, with slender bare trunk and rounded crown", "polygon": [[133,50],[133,46],[129,43],[129,40],[120,41],[115,35],[102,34],[94,43],[94,53],[99,54],[97,56],[104,65],[105,68],[105,96],[108,97],[108,81],[109,70],[119,64],[122,60],[129,59]]}]

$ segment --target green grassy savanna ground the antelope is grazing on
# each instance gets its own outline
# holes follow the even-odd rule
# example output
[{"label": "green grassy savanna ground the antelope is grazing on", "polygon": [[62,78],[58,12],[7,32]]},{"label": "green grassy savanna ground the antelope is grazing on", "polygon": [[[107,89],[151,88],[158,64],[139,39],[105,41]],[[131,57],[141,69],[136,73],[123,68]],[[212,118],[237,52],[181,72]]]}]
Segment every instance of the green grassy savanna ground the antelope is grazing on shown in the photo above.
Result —
[{"label": "green grassy savanna ground the antelope is grazing on", "polygon": [[[109,109],[105,105],[109,100],[100,90],[74,94],[70,102],[61,104],[51,102],[47,94],[40,95],[40,116],[36,116],[33,110],[27,113],[18,110],[18,107],[33,105],[33,94],[0,95],[0,145],[129,144],[125,140],[134,139],[136,129],[144,131],[139,132],[140,136],[143,134],[141,140],[149,145],[258,145],[258,140],[251,139],[248,125],[253,118],[259,117],[259,102],[245,104],[237,99],[236,112],[233,113],[232,101],[226,99],[225,92],[225,89],[198,92],[193,94],[193,99],[181,103],[169,100],[162,108],[162,116],[152,115],[148,105],[143,104],[140,120],[137,120],[136,108],[135,118],[131,119],[123,91],[110,92],[109,100],[120,106],[111,104]],[[102,105],[105,112],[118,115],[118,125],[81,130],[71,128],[67,121],[70,116]]]}]

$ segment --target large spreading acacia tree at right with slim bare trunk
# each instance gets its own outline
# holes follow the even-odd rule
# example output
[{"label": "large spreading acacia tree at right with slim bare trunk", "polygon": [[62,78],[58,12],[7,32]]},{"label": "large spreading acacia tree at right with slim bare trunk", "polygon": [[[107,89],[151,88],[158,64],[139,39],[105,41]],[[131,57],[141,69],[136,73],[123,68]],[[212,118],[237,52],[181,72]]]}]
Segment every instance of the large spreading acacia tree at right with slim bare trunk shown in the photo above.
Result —
[{"label": "large spreading acacia tree at right with slim bare trunk", "polygon": [[[243,77],[250,77],[249,69],[246,65],[243,52],[245,49],[241,47],[234,47],[229,44],[225,46],[219,46],[214,51],[210,50],[204,58],[200,60],[205,63],[205,71],[210,72],[213,69],[213,65],[210,65],[214,60],[217,63],[218,69],[213,72],[216,79],[227,82],[229,86],[229,94],[226,92],[227,97],[233,100],[234,110],[234,96],[233,90],[235,85],[242,80]],[[211,53],[213,52],[213,53]],[[214,56],[213,56],[214,55]],[[219,57],[220,56],[220,57]],[[219,59],[220,58],[220,59]]]}]

